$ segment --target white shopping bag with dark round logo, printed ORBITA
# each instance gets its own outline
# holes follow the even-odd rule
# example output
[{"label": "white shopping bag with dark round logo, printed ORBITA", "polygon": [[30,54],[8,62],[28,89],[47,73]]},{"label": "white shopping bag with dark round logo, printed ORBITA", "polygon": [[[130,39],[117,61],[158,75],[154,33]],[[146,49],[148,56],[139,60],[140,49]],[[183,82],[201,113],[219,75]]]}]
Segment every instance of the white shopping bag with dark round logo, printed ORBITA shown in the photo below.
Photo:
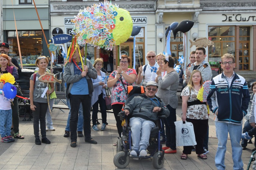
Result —
[{"label": "white shopping bag with dark round logo, printed ORBITA", "polygon": [[194,133],[194,127],[191,122],[183,124],[182,121],[174,122],[176,126],[176,146],[194,146],[197,145]]}]

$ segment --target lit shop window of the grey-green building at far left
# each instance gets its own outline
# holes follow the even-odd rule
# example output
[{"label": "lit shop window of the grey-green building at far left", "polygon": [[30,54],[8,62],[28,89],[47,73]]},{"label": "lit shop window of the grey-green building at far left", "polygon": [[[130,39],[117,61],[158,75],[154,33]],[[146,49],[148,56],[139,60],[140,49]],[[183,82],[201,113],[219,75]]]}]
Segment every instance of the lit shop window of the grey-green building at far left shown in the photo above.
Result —
[{"label": "lit shop window of the grey-green building at far left", "polygon": [[[15,57],[20,64],[18,42],[15,36],[16,31],[8,31],[8,44],[10,46],[8,55]],[[18,36],[23,66],[35,66],[37,57],[43,55],[42,31],[18,31]]]}]

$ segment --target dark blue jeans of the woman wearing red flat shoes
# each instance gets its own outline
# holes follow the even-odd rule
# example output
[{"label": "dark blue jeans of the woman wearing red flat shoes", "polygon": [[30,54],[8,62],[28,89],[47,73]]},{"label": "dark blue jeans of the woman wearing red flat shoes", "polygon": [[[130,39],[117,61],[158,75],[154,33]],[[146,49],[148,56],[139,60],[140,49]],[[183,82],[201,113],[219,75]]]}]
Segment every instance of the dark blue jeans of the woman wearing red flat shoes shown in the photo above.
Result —
[{"label": "dark blue jeans of the woman wearing red flat shoes", "polygon": [[169,104],[166,107],[170,111],[170,115],[163,120],[165,125],[166,146],[170,147],[172,150],[176,150],[176,131],[174,124],[177,120],[176,109],[172,108]]}]

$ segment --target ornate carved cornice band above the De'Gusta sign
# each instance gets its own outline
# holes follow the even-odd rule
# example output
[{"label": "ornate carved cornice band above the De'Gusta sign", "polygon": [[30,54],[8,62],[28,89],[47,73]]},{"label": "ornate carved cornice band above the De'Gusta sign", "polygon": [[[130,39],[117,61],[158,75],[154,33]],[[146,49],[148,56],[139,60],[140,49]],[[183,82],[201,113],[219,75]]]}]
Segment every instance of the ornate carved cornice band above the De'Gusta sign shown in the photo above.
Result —
[{"label": "ornate carved cornice band above the De'Gusta sign", "polygon": [[256,2],[203,2],[201,8],[256,7]]}]

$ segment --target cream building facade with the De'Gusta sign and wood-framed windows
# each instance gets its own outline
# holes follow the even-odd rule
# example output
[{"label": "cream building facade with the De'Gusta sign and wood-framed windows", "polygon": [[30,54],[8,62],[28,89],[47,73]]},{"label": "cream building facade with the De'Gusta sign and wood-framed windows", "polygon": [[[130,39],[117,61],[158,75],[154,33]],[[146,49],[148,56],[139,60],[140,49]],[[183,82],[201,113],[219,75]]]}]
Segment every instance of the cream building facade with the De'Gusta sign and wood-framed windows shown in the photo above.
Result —
[{"label": "cream building facade with the De'Gusta sign and wood-framed windows", "polygon": [[[194,26],[186,33],[186,54],[196,48],[189,48],[189,39],[206,37],[214,42],[206,48],[206,60],[212,68],[218,66],[223,54],[231,53],[235,56],[235,71],[256,71],[255,7],[255,1],[158,0],[156,34],[165,33],[172,22],[192,20]],[[171,37],[171,51],[174,56],[181,56],[183,33],[176,36],[177,40]],[[157,42],[157,51],[161,52],[165,40]]]}]

